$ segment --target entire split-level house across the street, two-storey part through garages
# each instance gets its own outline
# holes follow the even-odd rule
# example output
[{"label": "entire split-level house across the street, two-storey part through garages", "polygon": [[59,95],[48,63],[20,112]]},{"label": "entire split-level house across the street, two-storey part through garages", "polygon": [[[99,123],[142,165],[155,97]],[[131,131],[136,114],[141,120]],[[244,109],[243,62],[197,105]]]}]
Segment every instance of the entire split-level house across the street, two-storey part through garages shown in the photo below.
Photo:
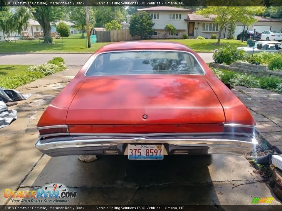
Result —
[{"label": "entire split-level house across the street, two-storey part through garages", "polygon": [[[156,6],[138,9],[138,11],[146,11],[149,13],[155,25],[153,26],[154,35],[152,38],[182,38],[183,34],[188,34],[190,38],[196,38],[198,35],[204,38],[211,38],[212,34],[218,34],[219,26],[213,23],[212,18],[215,15],[210,15],[210,18],[205,18],[202,15],[197,15],[193,10],[169,7],[169,6]],[[265,30],[281,30],[282,20],[273,18],[263,18],[255,16],[258,20],[256,23],[245,26],[245,30],[256,29],[258,32]],[[164,30],[164,27],[171,23],[176,28],[174,35]],[[122,28],[126,28],[123,26]],[[243,24],[237,22],[234,36],[237,37],[243,31]],[[227,38],[227,26],[222,30],[221,38]]]}]

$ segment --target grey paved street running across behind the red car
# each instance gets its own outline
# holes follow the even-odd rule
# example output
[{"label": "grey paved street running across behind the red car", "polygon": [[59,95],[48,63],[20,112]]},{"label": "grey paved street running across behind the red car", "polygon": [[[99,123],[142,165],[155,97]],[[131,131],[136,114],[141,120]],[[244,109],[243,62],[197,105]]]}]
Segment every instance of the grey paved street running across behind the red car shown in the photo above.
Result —
[{"label": "grey paved street running across behind the red car", "polygon": [[[205,62],[212,62],[213,53],[199,53]],[[0,64],[44,64],[53,57],[62,57],[66,65],[83,65],[91,53],[0,53]]]}]

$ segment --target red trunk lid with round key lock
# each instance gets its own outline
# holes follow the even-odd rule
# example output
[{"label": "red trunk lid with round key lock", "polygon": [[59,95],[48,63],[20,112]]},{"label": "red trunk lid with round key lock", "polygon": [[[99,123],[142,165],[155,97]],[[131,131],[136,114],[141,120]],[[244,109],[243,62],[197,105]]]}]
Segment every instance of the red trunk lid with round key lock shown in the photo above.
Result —
[{"label": "red trunk lid with round key lock", "polygon": [[[147,115],[145,118],[144,115]],[[223,108],[205,79],[86,80],[67,124],[160,125],[222,123]]]}]

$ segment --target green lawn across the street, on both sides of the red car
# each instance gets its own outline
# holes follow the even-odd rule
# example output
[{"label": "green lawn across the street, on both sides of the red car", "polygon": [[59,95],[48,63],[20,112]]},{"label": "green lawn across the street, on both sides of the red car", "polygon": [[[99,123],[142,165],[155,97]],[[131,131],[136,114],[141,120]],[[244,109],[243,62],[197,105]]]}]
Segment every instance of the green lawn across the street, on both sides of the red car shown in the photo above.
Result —
[{"label": "green lawn across the street, on both sides of the red car", "polygon": [[[86,38],[80,38],[80,34],[71,35],[68,38],[54,39],[54,44],[43,44],[42,40],[20,40],[12,42],[0,42],[1,53],[12,52],[95,52],[100,47],[109,42],[99,42],[91,45],[91,48],[86,46]],[[40,41],[40,43],[39,43]],[[217,40],[155,40],[155,41],[173,41],[180,42],[187,45],[194,51],[208,51],[213,52],[213,49],[224,46],[245,46],[246,42],[239,40],[220,40],[221,45],[214,45]]]}]

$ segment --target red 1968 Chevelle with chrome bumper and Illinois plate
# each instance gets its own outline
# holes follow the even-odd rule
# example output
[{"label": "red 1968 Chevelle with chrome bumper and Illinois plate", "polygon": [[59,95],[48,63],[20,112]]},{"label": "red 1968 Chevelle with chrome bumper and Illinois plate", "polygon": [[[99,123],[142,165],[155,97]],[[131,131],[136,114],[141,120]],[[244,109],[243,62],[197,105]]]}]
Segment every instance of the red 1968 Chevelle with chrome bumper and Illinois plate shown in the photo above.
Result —
[{"label": "red 1968 Chevelle with chrome bumper and Illinois plate", "polygon": [[249,110],[187,46],[116,42],[97,50],[41,116],[50,156],[245,154],[257,144]]}]

